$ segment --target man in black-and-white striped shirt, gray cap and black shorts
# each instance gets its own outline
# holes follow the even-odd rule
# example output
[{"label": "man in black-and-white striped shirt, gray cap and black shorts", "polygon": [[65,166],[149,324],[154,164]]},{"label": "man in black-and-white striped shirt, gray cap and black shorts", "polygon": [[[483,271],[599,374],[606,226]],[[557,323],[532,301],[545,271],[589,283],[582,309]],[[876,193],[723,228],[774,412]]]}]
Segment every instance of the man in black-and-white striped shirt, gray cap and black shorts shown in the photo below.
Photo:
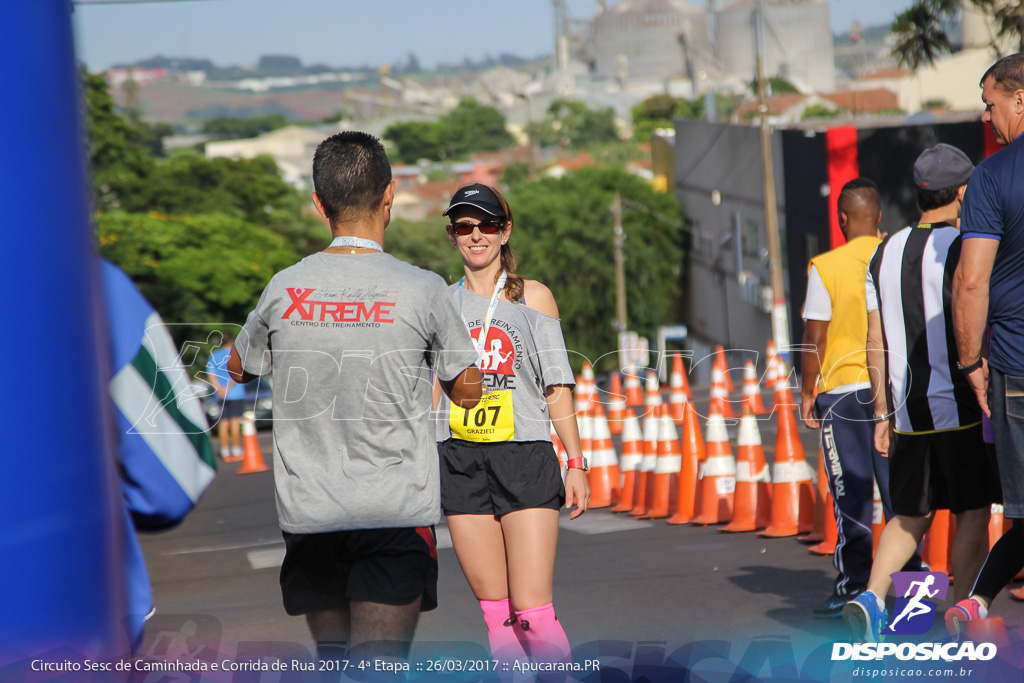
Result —
[{"label": "man in black-and-white striped shirt, gray cap and black shorts", "polygon": [[950,303],[961,250],[956,224],[973,171],[967,155],[948,144],[922,153],[913,167],[921,220],[882,243],[867,270],[874,446],[889,457],[895,516],[882,533],[867,590],[843,609],[853,636],[865,642],[880,639],[890,574],[910,559],[936,510],[956,516],[957,598],[967,597],[988,549],[997,478],[978,401],[956,368]]}]

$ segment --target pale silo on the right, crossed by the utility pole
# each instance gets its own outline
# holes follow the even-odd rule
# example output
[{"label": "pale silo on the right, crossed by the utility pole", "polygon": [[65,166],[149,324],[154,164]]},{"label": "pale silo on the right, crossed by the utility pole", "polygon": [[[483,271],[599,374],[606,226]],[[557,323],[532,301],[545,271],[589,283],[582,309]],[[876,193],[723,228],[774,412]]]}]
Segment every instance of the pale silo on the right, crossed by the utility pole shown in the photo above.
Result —
[{"label": "pale silo on the right, crossed by the utility pole", "polygon": [[716,14],[717,54],[725,74],[753,81],[762,15],[766,76],[804,90],[836,89],[828,3],[824,0],[733,0]]}]

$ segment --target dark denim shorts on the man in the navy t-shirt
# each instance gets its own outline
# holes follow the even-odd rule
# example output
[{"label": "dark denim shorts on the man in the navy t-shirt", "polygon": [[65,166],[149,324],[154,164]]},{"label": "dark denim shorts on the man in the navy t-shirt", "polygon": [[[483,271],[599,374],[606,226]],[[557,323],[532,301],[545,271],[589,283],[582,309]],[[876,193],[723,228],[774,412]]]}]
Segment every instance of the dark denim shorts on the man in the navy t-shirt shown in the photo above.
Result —
[{"label": "dark denim shorts on the man in the navy t-shirt", "polygon": [[1004,514],[1021,519],[1024,518],[1024,377],[989,368],[988,408],[992,412]]}]

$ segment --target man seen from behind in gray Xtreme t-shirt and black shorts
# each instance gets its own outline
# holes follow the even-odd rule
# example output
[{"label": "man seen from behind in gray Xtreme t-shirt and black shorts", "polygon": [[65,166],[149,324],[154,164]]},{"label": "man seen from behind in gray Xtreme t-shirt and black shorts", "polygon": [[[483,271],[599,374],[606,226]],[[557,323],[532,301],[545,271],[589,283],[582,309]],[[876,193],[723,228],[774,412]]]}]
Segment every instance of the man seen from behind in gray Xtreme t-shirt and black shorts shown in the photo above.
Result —
[{"label": "man seen from behind in gray Xtreme t-shirt and black shorts", "polygon": [[334,241],[271,279],[228,370],[274,377],[286,611],[306,615],[322,658],[346,657],[338,643],[404,657],[436,606],[430,371],[467,408],[482,378],[444,281],[382,251],[394,184],[380,141],[329,137],[313,185]]}]

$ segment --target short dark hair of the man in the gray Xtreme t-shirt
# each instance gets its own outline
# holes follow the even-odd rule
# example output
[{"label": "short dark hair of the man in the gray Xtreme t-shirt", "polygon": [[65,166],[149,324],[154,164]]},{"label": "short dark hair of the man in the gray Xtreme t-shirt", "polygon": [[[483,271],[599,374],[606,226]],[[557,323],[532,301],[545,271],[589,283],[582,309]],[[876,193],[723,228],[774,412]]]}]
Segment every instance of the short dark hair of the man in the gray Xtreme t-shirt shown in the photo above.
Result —
[{"label": "short dark hair of the man in the gray Xtreme t-shirt", "polygon": [[316,146],[313,189],[332,223],[376,210],[389,182],[387,153],[369,133],[337,133]]}]

